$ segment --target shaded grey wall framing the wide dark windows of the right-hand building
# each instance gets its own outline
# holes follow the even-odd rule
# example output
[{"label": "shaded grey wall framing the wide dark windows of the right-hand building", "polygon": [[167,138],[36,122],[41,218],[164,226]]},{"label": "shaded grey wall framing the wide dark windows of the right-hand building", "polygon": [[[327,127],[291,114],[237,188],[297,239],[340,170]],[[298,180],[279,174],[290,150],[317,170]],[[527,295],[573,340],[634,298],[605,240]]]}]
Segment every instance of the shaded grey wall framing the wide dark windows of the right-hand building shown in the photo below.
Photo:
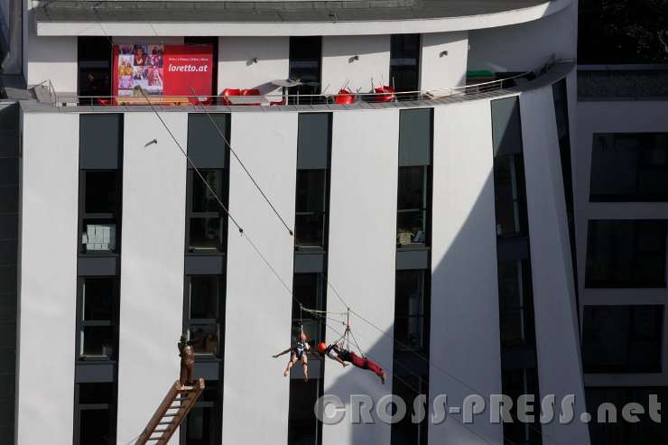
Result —
[{"label": "shaded grey wall framing the wide dark windows of the right-hand building", "polygon": [[[576,219],[580,306],[659,304],[665,305],[666,289],[586,289],[587,223],[589,219],[668,219],[666,202],[589,202],[591,150],[595,133],[668,133],[666,103],[663,101],[580,101],[574,150],[575,178],[578,180]],[[580,312],[581,313],[581,312]],[[662,386],[668,380],[668,311],[663,311],[663,372],[656,374],[590,374],[588,386]]]}]

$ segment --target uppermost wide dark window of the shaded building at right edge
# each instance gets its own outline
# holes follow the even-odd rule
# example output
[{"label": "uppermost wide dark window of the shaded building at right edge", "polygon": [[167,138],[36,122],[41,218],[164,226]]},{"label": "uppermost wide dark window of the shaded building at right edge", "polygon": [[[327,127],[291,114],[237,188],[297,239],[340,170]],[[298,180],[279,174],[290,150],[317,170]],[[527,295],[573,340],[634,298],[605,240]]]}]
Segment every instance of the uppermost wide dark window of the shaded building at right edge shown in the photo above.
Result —
[{"label": "uppermost wide dark window of the shaded building at right edge", "polygon": [[591,201],[668,200],[668,133],[594,134]]}]

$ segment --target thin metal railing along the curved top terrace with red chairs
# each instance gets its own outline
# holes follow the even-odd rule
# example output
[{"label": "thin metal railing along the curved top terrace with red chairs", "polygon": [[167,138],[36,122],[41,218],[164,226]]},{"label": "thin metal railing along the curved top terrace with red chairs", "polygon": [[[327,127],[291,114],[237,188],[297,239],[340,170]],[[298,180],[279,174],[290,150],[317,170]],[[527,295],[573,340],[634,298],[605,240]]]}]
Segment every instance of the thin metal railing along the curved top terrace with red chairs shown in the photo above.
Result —
[{"label": "thin metal railing along the curved top terrace with red chairs", "polygon": [[[543,69],[540,72],[543,73]],[[286,106],[286,105],[355,105],[360,102],[387,103],[404,102],[415,100],[429,100],[441,97],[466,96],[498,91],[505,88],[515,87],[524,80],[536,78],[534,71],[526,71],[515,76],[504,79],[496,79],[472,85],[463,85],[451,88],[435,88],[416,91],[394,91],[394,88],[381,87],[371,92],[359,92],[341,90],[329,94],[281,94],[271,93],[264,95],[242,95],[242,96],[151,96],[144,90],[137,91],[136,96],[79,96],[69,94],[55,94],[55,107],[76,106],[121,106],[132,107],[148,105],[153,106],[193,106],[193,105],[225,105],[225,106]],[[361,89],[361,88],[359,88]]]}]

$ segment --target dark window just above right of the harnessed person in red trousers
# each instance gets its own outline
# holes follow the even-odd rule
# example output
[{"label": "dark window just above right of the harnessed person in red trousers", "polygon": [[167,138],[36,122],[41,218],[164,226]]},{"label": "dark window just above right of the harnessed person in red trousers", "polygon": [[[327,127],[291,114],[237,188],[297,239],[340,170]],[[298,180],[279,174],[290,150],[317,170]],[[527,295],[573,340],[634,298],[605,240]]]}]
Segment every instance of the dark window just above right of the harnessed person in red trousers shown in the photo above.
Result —
[{"label": "dark window just above right of the harnessed person in red trousers", "polygon": [[429,271],[396,271],[394,295],[394,338],[397,348],[423,350],[427,345],[426,276]]}]

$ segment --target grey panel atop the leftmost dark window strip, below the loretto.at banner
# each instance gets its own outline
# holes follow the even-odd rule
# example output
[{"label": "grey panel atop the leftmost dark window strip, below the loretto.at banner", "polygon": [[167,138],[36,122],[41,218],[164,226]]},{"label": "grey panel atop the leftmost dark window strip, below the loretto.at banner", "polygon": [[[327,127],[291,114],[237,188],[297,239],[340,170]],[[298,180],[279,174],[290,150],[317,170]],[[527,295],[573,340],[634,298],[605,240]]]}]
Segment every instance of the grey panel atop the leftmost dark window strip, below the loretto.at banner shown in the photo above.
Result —
[{"label": "grey panel atop the leftmost dark window strip, below the loretto.at banner", "polygon": [[119,168],[122,137],[123,115],[80,115],[79,169]]}]

